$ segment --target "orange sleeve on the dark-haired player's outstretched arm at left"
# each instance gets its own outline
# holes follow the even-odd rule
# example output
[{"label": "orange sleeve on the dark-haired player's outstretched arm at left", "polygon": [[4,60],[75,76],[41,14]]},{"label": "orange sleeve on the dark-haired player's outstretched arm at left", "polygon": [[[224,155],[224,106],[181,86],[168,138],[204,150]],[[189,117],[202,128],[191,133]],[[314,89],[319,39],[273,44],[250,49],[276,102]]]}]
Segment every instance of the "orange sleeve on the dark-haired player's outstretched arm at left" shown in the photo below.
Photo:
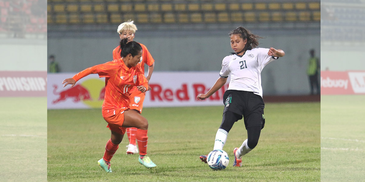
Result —
[{"label": "orange sleeve on the dark-haired player's outstretched arm at left", "polygon": [[72,78],[77,82],[81,78],[84,78],[90,74],[98,74],[99,77],[110,78],[119,68],[119,64],[115,62],[107,62],[104,64],[99,64],[90,68],[86,68],[85,70],[78,72]]}]

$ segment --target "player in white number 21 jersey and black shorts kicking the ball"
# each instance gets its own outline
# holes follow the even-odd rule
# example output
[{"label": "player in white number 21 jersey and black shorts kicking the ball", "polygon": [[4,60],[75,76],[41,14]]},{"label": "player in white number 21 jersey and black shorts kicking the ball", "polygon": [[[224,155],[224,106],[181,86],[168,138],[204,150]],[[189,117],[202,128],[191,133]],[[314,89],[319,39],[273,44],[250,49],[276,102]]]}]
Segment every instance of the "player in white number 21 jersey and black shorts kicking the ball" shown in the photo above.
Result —
[{"label": "player in white number 21 jersey and black shorts kicking the ball", "polygon": [[[206,94],[196,96],[204,100],[218,91],[227,81],[231,80],[228,90],[224,93],[223,119],[214,142],[214,149],[222,150],[227,141],[228,132],[233,124],[244,118],[247,139],[241,147],[233,150],[233,166],[241,166],[241,157],[254,149],[258,143],[261,129],[264,128],[264,100],[262,99],[261,71],[266,64],[285,55],[283,50],[274,48],[255,48],[260,36],[250,33],[243,27],[238,27],[229,33],[233,53],[222,61],[220,78]],[[207,163],[207,155],[201,155],[201,161]]]}]

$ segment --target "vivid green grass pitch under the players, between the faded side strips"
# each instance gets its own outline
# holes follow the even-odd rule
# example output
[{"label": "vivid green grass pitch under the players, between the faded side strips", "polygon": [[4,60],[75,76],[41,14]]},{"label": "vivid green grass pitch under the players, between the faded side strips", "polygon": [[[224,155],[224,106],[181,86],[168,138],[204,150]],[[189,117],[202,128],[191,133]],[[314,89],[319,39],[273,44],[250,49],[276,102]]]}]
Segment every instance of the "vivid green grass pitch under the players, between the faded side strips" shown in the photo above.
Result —
[{"label": "vivid green grass pitch under the players, between the faded side strips", "polygon": [[235,123],[223,150],[230,157],[222,171],[199,155],[213,149],[222,119],[220,107],[144,108],[149,120],[146,169],[138,155],[126,155],[127,137],[112,158],[113,173],[97,166],[110,131],[100,109],[48,110],[48,181],[320,181],[320,103],[267,103],[266,124],[257,147],[232,167],[233,149],[247,133]]}]

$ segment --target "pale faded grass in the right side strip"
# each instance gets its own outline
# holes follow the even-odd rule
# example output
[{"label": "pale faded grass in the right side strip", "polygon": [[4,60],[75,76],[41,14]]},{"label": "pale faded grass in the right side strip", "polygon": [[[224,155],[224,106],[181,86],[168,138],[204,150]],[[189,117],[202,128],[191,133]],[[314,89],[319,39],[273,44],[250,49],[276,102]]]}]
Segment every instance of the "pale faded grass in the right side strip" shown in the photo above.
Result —
[{"label": "pale faded grass in the right side strip", "polygon": [[321,181],[365,180],[365,95],[321,96]]}]

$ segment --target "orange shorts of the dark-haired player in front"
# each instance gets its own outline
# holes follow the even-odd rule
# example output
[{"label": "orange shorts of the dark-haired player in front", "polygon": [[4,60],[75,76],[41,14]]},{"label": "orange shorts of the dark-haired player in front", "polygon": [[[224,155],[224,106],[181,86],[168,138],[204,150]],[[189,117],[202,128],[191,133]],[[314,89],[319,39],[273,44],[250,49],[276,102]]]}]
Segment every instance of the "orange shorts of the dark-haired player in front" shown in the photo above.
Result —
[{"label": "orange shorts of the dark-haired player in front", "polygon": [[121,135],[124,135],[127,128],[122,127],[124,122],[124,111],[128,108],[120,108],[116,109],[113,112],[115,113],[112,116],[104,117],[105,121],[108,123],[107,127],[111,131],[115,131]]}]

